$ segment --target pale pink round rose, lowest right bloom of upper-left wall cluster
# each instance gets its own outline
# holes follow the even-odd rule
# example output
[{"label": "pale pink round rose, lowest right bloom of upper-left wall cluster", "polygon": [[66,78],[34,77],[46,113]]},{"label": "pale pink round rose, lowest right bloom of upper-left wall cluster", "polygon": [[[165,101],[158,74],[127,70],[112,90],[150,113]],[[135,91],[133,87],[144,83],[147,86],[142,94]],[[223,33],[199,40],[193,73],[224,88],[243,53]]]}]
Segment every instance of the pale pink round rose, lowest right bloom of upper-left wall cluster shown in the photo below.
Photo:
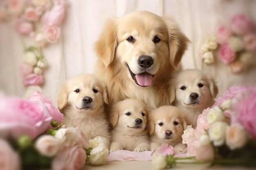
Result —
[{"label": "pale pink round rose, lowest right bloom of upper-left wall cluster", "polygon": [[60,37],[61,30],[58,26],[47,26],[44,29],[44,37],[45,40],[48,42],[54,43],[57,42],[58,38]]}]

